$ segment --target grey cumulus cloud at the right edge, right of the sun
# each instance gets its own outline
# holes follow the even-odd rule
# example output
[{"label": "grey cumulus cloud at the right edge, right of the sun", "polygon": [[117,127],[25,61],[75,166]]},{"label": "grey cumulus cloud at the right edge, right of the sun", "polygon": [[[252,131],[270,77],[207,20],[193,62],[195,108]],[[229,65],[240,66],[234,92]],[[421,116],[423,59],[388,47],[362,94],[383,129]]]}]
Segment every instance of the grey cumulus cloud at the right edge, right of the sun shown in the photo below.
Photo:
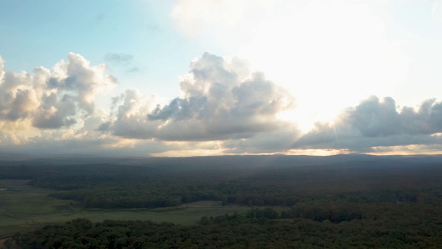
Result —
[{"label": "grey cumulus cloud at the right edge, right of the sun", "polygon": [[316,123],[294,147],[368,152],[380,147],[442,145],[441,132],[442,102],[431,99],[417,109],[398,108],[393,98],[381,101],[372,96],[341,113],[332,124]]}]

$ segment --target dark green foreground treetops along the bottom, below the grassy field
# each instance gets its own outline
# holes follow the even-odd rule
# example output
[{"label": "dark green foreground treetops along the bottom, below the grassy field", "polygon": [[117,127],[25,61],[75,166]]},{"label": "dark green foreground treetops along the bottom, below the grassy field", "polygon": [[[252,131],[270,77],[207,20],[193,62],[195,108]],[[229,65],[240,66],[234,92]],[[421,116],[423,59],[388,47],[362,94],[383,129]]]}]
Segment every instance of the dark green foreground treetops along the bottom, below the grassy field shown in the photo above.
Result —
[{"label": "dark green foreground treetops along the bottom, below the grassy field", "polygon": [[[440,248],[442,219],[276,219],[276,211],[202,217],[200,225],[75,219],[16,234],[6,248]],[[281,214],[278,214],[281,215]]]}]

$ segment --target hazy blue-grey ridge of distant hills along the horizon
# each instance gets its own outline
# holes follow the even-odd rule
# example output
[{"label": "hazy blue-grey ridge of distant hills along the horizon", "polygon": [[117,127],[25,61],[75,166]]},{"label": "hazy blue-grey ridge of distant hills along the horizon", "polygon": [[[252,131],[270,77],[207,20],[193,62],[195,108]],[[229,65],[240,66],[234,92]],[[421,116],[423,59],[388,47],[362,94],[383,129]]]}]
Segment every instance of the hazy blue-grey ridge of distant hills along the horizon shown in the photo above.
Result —
[{"label": "hazy blue-grey ridge of distant hills along the horizon", "polygon": [[137,165],[169,167],[201,167],[202,165],[240,167],[268,167],[278,165],[308,166],[308,165],[351,165],[352,162],[369,163],[372,165],[416,165],[420,163],[441,163],[442,155],[413,155],[413,156],[374,156],[367,154],[338,154],[333,156],[288,156],[247,155],[247,156],[194,156],[194,157],[106,157],[92,155],[56,155],[30,156],[26,154],[0,153],[0,165]]}]

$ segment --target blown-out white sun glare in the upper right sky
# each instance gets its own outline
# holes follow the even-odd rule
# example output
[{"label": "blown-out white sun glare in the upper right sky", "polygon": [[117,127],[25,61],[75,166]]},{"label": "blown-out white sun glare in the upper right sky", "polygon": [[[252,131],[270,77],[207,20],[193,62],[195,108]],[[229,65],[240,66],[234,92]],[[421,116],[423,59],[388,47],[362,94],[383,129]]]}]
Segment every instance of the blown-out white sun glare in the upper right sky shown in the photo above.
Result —
[{"label": "blown-out white sun glare in the upper right sky", "polygon": [[285,86],[304,110],[296,116],[314,122],[331,120],[368,95],[391,95],[404,81],[410,59],[402,41],[385,35],[385,4],[179,1],[172,17],[202,44],[220,44]]}]

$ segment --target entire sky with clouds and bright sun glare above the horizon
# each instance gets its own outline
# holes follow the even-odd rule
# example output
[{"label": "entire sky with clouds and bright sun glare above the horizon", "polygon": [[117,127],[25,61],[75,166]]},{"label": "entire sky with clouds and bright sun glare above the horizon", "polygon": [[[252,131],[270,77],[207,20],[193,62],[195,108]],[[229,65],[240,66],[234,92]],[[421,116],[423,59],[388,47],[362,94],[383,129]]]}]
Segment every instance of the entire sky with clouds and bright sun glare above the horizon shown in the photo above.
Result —
[{"label": "entire sky with clouds and bright sun glare above the horizon", "polygon": [[442,153],[442,0],[0,6],[3,154]]}]

